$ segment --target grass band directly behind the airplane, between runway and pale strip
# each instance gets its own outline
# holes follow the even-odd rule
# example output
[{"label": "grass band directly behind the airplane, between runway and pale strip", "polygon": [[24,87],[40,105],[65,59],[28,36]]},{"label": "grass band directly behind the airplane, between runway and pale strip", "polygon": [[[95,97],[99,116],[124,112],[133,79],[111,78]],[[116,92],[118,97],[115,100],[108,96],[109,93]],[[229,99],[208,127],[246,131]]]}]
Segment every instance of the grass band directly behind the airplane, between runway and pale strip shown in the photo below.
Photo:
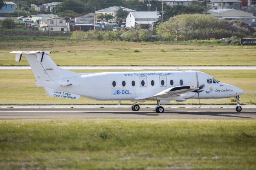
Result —
[{"label": "grass band directly behind the airplane, between runway and pale strip", "polygon": [[[116,70],[118,71],[118,70]],[[122,70],[123,71],[123,70]],[[232,70],[202,70],[223,83],[232,84],[244,90],[241,102],[245,105],[256,104],[256,71]],[[86,72],[86,71],[78,71]],[[92,71],[104,72],[104,71]],[[32,70],[0,70],[0,105],[91,105],[91,104],[117,104],[117,101],[94,101],[81,98],[79,100],[60,99],[47,97],[42,87],[36,86],[36,79]],[[236,104],[231,99],[201,99],[201,104]],[[199,104],[199,101],[187,100],[186,102],[172,101],[172,104]],[[123,101],[122,104],[132,104]],[[143,104],[143,103],[140,103]],[[146,101],[144,104],[156,104],[155,101]]]}]

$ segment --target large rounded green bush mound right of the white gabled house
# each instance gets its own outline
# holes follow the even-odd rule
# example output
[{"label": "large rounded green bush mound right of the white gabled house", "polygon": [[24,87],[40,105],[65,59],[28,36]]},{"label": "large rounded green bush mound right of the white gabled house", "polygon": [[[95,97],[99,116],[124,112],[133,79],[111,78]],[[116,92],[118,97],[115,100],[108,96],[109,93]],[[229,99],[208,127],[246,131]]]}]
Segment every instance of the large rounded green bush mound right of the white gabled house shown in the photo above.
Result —
[{"label": "large rounded green bush mound right of the white gabled house", "polygon": [[[243,26],[243,24],[242,24]],[[244,37],[252,34],[241,23],[220,20],[203,14],[182,14],[156,27],[156,33],[165,40],[210,40],[212,38]]]}]

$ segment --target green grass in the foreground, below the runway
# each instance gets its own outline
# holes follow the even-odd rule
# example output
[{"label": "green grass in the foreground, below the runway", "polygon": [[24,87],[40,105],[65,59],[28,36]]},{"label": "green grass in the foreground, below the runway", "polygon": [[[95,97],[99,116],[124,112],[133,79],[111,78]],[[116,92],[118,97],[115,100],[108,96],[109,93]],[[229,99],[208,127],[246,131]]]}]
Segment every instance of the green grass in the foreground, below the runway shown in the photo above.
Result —
[{"label": "green grass in the foreground, below the runway", "polygon": [[4,169],[255,169],[256,120],[1,120]]}]

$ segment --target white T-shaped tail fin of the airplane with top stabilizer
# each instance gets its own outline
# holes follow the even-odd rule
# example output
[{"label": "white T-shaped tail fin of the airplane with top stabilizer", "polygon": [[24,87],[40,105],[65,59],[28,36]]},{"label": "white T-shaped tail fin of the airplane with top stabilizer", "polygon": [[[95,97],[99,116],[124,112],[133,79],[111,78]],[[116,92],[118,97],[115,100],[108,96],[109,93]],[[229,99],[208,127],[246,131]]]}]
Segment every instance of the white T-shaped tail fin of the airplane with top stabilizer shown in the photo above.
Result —
[{"label": "white T-shaped tail fin of the airplane with top stabilizer", "polygon": [[58,67],[48,55],[51,53],[50,51],[12,51],[10,53],[16,54],[15,61],[20,61],[22,54],[25,54],[37,81],[62,79],[78,75],[75,72]]}]

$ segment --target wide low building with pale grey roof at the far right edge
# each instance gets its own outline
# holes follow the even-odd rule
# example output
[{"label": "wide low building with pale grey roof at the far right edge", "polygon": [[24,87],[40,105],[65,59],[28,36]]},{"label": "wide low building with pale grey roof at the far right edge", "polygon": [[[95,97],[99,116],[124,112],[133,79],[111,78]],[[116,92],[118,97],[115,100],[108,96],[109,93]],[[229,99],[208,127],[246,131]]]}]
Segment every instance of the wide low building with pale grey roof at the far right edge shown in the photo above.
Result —
[{"label": "wide low building with pale grey roof at the far right edge", "polygon": [[225,9],[225,10],[208,10],[208,13],[212,16],[226,20],[241,21],[251,26],[256,25],[256,17],[252,13],[244,12],[236,9]]}]

